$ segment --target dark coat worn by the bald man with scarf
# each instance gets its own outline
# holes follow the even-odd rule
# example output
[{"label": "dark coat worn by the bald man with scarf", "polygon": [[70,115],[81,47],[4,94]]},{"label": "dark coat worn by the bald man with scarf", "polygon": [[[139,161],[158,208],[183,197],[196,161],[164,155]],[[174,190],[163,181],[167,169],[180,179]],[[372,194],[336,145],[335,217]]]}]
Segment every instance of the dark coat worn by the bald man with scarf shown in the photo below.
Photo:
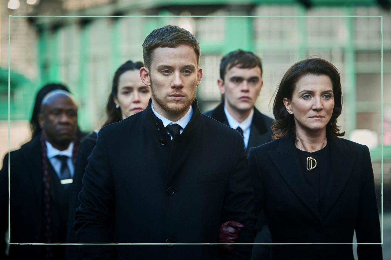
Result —
[{"label": "dark coat worn by the bald man with scarf", "polygon": [[[79,136],[79,138],[82,135]],[[10,155],[10,242],[11,243],[44,243],[43,234],[43,175],[41,135]],[[68,217],[68,197],[56,173],[48,162],[49,174],[52,175],[52,234],[54,243],[65,243],[66,221]],[[0,170],[0,234],[8,228],[8,154],[5,155]],[[1,244],[4,252],[4,244]],[[65,246],[52,246],[56,259],[65,258]],[[11,245],[10,259],[45,258],[45,246]]]}]

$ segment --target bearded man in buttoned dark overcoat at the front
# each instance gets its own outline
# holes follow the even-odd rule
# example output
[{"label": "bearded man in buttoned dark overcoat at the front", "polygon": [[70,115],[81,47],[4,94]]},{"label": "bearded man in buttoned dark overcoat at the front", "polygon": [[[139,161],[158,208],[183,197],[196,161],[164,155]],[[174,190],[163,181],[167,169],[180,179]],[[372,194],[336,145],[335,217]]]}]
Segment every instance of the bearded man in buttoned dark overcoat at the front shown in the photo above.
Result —
[{"label": "bearded man in buttoned dark overcoat at the front", "polygon": [[249,259],[251,245],[219,253],[220,224],[243,224],[238,243],[252,243],[256,217],[243,139],[200,113],[199,43],[167,25],[143,43],[140,77],[151,86],[147,109],[99,132],[75,212],[86,259]]}]

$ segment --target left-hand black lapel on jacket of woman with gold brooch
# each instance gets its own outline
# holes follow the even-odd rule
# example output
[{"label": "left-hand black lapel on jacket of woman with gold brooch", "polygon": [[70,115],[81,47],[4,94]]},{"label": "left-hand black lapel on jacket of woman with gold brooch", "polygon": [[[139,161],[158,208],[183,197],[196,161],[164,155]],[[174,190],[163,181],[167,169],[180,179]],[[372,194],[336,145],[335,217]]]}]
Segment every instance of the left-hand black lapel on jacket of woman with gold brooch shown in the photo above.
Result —
[{"label": "left-hand black lapel on jacket of woman with gold brooch", "polygon": [[293,193],[312,212],[312,214],[321,220],[322,218],[316,205],[311,201],[312,196],[299,164],[294,139],[290,135],[281,138],[277,150],[268,151],[268,154],[278,170],[278,173],[282,176]]}]

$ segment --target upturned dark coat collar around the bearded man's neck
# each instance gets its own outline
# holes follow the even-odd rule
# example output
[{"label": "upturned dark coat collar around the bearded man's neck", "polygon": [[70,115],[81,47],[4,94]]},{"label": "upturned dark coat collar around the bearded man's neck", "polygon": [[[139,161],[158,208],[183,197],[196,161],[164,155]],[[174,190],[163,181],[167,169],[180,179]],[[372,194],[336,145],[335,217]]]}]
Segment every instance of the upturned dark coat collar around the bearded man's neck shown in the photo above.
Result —
[{"label": "upturned dark coat collar around the bearded man's neck", "polygon": [[[147,108],[142,112],[143,113],[143,121],[152,128],[153,131],[159,132],[163,136],[167,136],[167,131],[163,126],[163,122],[157,118],[152,111],[151,108],[152,98],[149,99],[149,103]],[[183,130],[182,134],[180,135],[181,139],[185,139],[188,137],[191,137],[192,132],[197,129],[197,127],[202,122],[202,115],[198,107],[197,99],[194,100],[192,103],[192,109],[193,109],[193,115],[190,119],[189,123]]]}]

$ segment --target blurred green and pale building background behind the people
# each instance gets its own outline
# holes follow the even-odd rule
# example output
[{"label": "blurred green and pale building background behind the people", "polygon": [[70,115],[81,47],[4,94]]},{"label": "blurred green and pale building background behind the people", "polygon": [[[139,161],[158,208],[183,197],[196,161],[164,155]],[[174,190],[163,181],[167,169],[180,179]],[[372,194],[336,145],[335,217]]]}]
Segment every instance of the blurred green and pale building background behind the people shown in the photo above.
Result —
[{"label": "blurred green and pale building background behind the people", "polygon": [[[346,132],[346,139],[366,144],[369,148],[379,210],[384,171],[384,243],[391,244],[389,0],[351,0],[349,5],[344,0],[276,0],[251,5],[240,0],[229,3],[211,0],[208,4],[194,0],[189,2],[191,5],[159,0],[149,1],[148,5],[126,0],[5,0],[1,4],[4,15],[1,16],[0,41],[3,47],[8,45],[8,25],[11,29],[9,92],[8,48],[1,48],[1,155],[8,150],[8,94],[11,101],[11,150],[20,148],[30,139],[32,93],[48,82],[66,82],[71,86],[70,91],[79,101],[82,131],[99,129],[106,119],[105,104],[110,93],[107,86],[118,64],[128,59],[141,60],[141,44],[145,36],[152,29],[166,24],[186,28],[200,42],[203,50],[200,67],[205,73],[197,90],[197,100],[203,112],[213,109],[221,101],[215,80],[219,78],[217,68],[225,53],[240,48],[262,58],[264,85],[255,107],[269,117],[272,117],[269,100],[285,71],[291,64],[315,55],[339,68],[345,99],[338,123],[343,126],[341,130]],[[139,17],[8,17],[45,14]],[[211,16],[188,17],[190,15]],[[222,17],[229,15],[268,17]],[[306,15],[312,17],[303,17]],[[384,249],[385,258],[391,258],[391,247]]]}]

